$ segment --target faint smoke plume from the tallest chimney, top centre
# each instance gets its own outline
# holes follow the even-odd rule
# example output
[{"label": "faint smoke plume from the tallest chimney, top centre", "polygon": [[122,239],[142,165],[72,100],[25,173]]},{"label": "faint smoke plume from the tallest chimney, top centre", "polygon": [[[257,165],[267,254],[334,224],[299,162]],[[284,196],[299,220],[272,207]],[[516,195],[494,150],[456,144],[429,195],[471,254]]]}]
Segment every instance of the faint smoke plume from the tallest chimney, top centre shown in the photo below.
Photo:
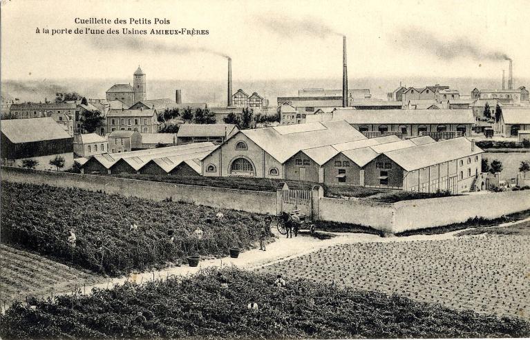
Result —
[{"label": "faint smoke plume from the tallest chimney, top centre", "polygon": [[254,17],[253,22],[260,24],[270,32],[287,38],[312,36],[325,39],[330,35],[343,35],[320,19],[296,19],[278,14],[267,14]]}]

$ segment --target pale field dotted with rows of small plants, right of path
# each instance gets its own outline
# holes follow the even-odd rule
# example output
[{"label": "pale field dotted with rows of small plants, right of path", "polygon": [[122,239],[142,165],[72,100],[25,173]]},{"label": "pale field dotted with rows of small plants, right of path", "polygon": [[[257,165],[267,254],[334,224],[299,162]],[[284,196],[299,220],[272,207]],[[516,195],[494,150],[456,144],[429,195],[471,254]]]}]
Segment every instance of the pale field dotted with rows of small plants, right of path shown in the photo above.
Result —
[{"label": "pale field dotted with rows of small plants, right of path", "polygon": [[354,243],[259,271],[530,319],[529,252],[528,234]]}]

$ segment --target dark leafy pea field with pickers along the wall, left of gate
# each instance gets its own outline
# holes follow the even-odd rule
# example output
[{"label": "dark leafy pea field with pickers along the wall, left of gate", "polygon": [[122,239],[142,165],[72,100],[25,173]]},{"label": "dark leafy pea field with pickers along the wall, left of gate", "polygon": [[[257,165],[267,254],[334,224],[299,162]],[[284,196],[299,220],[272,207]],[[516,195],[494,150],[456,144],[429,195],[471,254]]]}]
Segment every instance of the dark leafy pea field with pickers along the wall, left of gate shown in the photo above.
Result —
[{"label": "dark leafy pea field with pickers along the wall, left of gate", "polygon": [[[263,226],[262,216],[248,212],[81,189],[1,185],[2,243],[111,276],[180,263],[195,252],[221,257],[233,246],[248,249]],[[68,241],[68,230],[75,243]]]}]

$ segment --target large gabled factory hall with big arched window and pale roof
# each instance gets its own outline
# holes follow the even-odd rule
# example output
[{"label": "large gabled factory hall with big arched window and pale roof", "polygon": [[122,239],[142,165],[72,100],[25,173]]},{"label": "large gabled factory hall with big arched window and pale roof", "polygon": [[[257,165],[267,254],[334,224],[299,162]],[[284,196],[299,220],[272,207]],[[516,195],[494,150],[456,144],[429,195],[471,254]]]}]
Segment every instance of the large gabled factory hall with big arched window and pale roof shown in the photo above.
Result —
[{"label": "large gabled factory hall with big arched window and pale roof", "polygon": [[285,162],[300,150],[359,139],[366,137],[346,121],[240,130],[203,159],[202,174],[283,179]]}]

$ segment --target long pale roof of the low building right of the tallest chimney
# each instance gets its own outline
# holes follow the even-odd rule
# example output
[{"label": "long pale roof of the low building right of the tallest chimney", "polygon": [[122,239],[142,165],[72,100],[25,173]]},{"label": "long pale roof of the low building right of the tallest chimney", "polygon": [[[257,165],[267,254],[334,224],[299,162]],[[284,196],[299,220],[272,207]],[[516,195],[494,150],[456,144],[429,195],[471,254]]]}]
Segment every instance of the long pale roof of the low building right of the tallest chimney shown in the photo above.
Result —
[{"label": "long pale roof of the low building right of the tallest chimney", "polygon": [[350,124],[473,124],[473,111],[468,109],[440,110],[352,110],[338,108],[333,120]]}]

